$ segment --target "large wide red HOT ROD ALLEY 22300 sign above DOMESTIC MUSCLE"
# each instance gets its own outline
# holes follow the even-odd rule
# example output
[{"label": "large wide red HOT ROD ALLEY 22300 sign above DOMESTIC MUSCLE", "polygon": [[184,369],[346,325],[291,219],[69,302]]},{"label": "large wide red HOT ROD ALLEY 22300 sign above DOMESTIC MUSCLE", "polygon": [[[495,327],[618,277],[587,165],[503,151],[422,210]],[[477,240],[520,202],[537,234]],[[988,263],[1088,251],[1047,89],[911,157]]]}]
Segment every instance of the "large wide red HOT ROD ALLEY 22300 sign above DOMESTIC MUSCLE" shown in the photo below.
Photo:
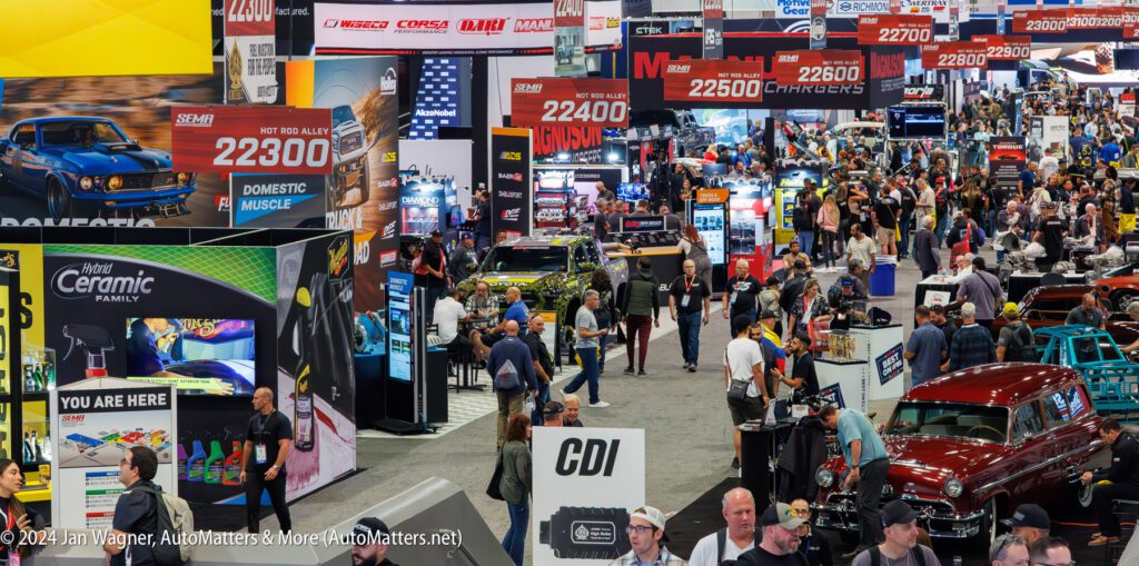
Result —
[{"label": "large wide red HOT ROD ALLEY 22300 sign above DOMESTIC MUSCLE", "polygon": [[333,172],[329,108],[175,106],[170,124],[177,171]]}]

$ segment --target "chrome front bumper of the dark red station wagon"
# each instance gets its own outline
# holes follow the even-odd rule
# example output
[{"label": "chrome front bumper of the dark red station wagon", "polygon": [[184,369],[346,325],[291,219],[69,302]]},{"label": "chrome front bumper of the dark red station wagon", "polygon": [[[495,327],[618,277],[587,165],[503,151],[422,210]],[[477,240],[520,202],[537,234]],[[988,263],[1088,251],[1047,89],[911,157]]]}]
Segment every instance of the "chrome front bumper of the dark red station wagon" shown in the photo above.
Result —
[{"label": "chrome front bumper of the dark red station wagon", "polygon": [[[947,501],[913,495],[883,495],[882,502],[901,499],[920,514],[918,525],[937,539],[968,539],[981,533],[984,511],[956,512]],[[853,493],[833,493],[826,503],[812,503],[814,526],[835,531],[859,531],[858,507]]]}]

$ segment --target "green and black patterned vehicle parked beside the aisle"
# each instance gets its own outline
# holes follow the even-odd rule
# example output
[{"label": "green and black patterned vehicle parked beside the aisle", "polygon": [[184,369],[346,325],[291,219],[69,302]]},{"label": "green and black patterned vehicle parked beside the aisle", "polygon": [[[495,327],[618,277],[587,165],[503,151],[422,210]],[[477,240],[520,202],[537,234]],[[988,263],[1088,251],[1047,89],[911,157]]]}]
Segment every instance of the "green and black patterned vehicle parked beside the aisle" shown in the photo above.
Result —
[{"label": "green and black patterned vehicle parked beside the aisle", "polygon": [[[554,312],[563,327],[563,344],[572,339],[573,317],[593,278],[604,269],[613,280],[614,297],[629,280],[624,257],[608,259],[589,236],[526,237],[497,244],[483,260],[478,272],[459,284],[468,296],[478,281],[490,285],[505,311],[506,289],[518,287],[531,312]],[[549,321],[547,321],[549,322]]]}]

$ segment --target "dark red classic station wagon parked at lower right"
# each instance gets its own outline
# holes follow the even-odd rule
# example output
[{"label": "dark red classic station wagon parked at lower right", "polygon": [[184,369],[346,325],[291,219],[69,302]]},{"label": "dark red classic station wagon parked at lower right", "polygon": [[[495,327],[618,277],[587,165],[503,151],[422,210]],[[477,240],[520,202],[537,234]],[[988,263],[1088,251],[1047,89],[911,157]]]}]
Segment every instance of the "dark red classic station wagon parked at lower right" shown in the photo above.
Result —
[{"label": "dark red classic station wagon parked at lower right", "polygon": [[[933,538],[988,543],[1021,503],[1076,502],[1071,482],[1107,456],[1099,421],[1068,368],[993,363],[942,376],[903,395],[883,430],[883,503],[907,501]],[[819,467],[817,526],[858,532],[854,493],[842,490],[849,471],[841,456]]]}]

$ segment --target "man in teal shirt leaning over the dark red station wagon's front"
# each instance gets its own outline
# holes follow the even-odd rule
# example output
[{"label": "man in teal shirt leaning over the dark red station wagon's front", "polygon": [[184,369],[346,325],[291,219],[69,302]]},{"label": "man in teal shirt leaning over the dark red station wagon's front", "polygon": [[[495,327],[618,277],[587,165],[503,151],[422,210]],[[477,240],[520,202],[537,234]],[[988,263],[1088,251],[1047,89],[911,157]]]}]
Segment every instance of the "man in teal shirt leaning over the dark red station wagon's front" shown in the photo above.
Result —
[{"label": "man in teal shirt leaning over the dark red station wagon's front", "polygon": [[827,428],[838,430],[838,445],[842,446],[843,457],[851,468],[844,486],[850,489],[851,485],[858,484],[855,503],[861,538],[858,548],[845,555],[852,558],[882,540],[879,503],[882,487],[886,484],[886,473],[890,470],[886,444],[882,442],[882,436],[878,436],[870,419],[861,411],[827,405],[819,411],[819,418]]}]

